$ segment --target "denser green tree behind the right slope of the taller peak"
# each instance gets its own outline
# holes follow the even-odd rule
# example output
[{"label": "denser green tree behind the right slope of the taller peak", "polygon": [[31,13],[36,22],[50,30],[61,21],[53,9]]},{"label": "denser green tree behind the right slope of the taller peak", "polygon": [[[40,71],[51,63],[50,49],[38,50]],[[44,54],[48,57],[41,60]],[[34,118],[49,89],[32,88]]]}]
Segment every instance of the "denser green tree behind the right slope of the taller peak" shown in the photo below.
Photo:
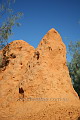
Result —
[{"label": "denser green tree behind the right slope of the taller peak", "polygon": [[80,96],[80,41],[69,44],[69,52],[72,56],[68,63],[69,73],[72,78],[73,87]]}]

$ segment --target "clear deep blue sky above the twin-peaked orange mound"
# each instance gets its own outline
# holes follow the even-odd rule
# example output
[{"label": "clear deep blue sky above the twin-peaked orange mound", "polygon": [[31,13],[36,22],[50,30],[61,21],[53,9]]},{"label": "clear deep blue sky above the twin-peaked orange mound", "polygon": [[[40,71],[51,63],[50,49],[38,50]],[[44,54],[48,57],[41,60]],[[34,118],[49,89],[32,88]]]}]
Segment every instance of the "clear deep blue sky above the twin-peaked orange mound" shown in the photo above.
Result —
[{"label": "clear deep blue sky above the twin-peaked orange mound", "polygon": [[71,40],[80,40],[80,0],[16,0],[13,9],[24,16],[9,42],[23,39],[36,48],[51,28],[60,33],[67,48]]}]

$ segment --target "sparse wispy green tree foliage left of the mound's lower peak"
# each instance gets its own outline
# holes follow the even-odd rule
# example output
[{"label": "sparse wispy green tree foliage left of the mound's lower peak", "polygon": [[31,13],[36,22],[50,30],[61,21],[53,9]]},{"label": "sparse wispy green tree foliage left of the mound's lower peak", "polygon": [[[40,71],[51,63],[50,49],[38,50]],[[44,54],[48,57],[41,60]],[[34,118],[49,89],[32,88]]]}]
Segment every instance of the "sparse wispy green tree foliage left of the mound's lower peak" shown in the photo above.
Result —
[{"label": "sparse wispy green tree foliage left of the mound's lower peak", "polygon": [[21,12],[14,13],[11,8],[12,3],[15,3],[15,0],[6,0],[0,5],[0,49],[8,44],[8,38],[13,34],[12,27],[20,26],[17,20],[23,15]]}]

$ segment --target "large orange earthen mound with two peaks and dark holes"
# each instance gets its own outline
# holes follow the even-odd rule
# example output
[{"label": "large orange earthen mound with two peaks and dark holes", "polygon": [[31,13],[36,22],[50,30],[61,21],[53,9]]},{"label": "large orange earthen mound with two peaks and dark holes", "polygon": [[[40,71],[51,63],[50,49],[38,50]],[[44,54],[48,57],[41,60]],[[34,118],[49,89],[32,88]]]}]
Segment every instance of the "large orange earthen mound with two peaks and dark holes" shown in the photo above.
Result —
[{"label": "large orange earthen mound with two peaks and dark holes", "polygon": [[8,46],[9,64],[0,71],[0,120],[76,120],[80,100],[59,33],[48,31],[36,49],[23,40]]}]

